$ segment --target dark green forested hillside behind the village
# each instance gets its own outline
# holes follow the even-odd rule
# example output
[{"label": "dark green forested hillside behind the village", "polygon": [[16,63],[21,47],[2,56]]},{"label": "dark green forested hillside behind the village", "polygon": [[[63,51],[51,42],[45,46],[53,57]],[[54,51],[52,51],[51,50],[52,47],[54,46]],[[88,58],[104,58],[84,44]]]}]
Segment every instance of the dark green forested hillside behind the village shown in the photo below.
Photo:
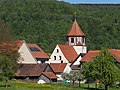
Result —
[{"label": "dark green forested hillside behind the village", "polygon": [[88,49],[120,48],[120,5],[71,5],[55,0],[0,0],[0,19],[18,39],[52,52],[66,41],[77,12]]}]

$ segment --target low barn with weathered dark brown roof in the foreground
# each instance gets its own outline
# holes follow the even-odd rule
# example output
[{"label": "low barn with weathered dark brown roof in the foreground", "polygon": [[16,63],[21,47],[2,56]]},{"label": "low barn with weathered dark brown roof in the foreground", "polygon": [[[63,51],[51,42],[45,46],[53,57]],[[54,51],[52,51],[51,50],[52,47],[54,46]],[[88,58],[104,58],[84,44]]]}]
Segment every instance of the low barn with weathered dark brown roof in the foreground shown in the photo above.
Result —
[{"label": "low barn with weathered dark brown roof in the foreground", "polygon": [[15,78],[27,82],[57,82],[57,76],[49,64],[22,64]]}]

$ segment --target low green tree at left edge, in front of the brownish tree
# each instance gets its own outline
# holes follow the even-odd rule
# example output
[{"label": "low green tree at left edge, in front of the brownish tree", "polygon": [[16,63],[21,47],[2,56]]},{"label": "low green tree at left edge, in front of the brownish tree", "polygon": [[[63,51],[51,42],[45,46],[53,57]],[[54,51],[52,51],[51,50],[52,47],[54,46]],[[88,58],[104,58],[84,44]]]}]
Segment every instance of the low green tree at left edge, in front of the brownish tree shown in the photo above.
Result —
[{"label": "low green tree at left edge, in front of the brownish tree", "polygon": [[0,56],[0,76],[2,80],[5,80],[5,86],[8,86],[8,80],[11,79],[15,72],[14,72],[14,63],[11,59],[7,57]]}]

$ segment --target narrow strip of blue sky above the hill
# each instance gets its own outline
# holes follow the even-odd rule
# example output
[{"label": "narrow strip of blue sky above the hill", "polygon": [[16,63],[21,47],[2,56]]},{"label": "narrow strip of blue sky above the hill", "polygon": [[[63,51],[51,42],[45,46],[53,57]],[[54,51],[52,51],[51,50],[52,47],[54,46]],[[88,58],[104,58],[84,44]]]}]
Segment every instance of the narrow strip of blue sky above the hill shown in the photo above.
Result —
[{"label": "narrow strip of blue sky above the hill", "polygon": [[59,0],[72,4],[120,4],[120,0]]}]

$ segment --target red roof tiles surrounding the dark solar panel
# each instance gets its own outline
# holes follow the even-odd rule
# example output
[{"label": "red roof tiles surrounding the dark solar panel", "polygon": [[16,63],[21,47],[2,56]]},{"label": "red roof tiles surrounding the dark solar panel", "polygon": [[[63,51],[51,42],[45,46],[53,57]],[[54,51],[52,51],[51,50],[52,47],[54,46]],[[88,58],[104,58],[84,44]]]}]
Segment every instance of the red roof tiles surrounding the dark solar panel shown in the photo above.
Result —
[{"label": "red roof tiles surrounding the dark solar panel", "polygon": [[32,51],[32,54],[35,58],[49,58],[49,56],[37,44],[28,44],[28,47],[36,47],[40,50]]}]

